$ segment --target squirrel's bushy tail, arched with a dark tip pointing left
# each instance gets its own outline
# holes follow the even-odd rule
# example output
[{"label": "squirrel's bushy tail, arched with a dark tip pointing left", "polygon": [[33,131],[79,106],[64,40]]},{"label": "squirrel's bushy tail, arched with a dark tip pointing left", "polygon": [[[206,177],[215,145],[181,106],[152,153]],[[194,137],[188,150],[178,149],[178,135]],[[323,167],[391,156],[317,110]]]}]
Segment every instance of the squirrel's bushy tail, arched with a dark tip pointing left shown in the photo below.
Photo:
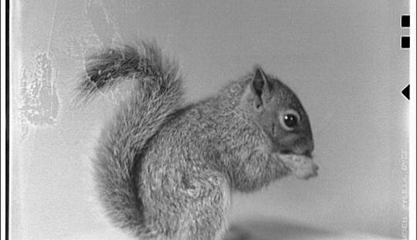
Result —
[{"label": "squirrel's bushy tail, arched with a dark tip pointing left", "polygon": [[130,96],[103,128],[94,160],[99,198],[112,222],[135,235],[146,232],[138,196],[138,164],[147,141],[181,104],[178,66],[156,44],[107,49],[87,59],[79,97],[125,79],[133,80]]}]

